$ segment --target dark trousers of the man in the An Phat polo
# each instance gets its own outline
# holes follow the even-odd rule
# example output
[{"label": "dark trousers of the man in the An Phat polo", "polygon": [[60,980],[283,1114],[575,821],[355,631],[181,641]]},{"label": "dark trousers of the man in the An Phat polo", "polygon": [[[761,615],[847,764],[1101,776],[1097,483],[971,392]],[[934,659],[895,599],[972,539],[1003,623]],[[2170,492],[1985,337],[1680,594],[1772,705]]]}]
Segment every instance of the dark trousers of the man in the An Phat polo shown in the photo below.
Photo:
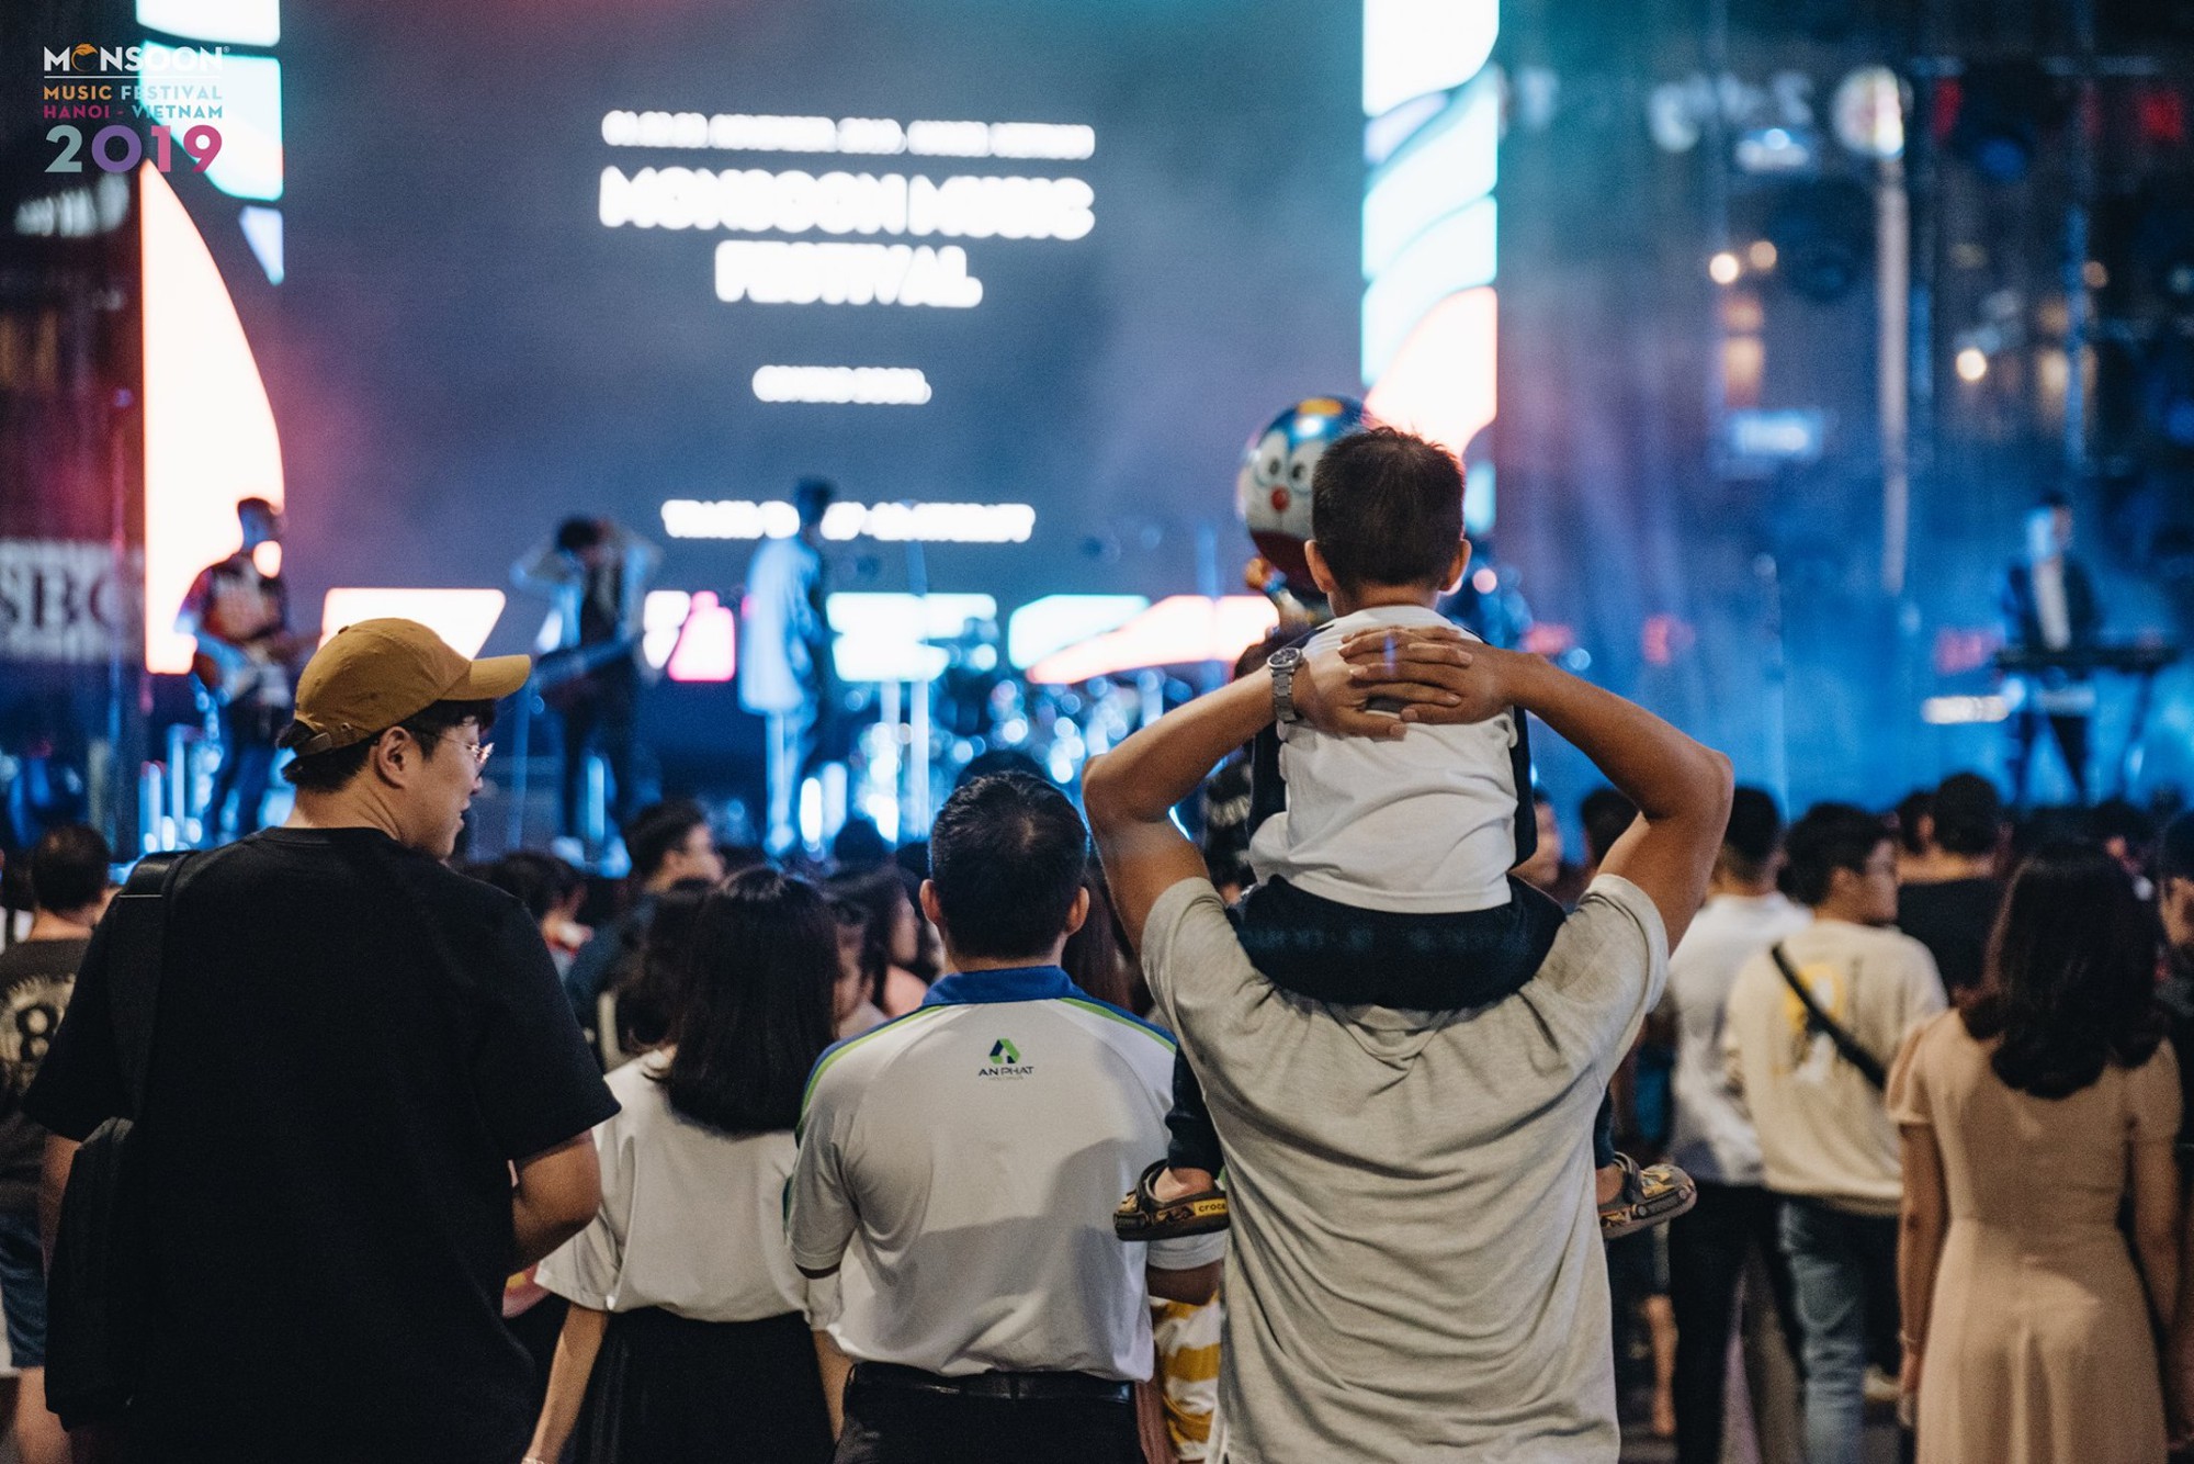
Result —
[{"label": "dark trousers of the man in the An Phat polo", "polygon": [[1143,1464],[1132,1403],[880,1387],[853,1367],[836,1464]]}]

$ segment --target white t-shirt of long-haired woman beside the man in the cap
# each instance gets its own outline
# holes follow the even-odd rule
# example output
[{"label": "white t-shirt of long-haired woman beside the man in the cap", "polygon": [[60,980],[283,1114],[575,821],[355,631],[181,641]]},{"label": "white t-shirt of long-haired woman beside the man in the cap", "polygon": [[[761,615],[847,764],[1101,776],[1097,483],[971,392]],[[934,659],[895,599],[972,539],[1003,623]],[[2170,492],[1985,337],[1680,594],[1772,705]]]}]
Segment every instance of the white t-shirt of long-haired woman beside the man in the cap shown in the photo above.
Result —
[{"label": "white t-shirt of long-haired woman beside the man in the cap", "polygon": [[601,1209],[535,1280],[610,1313],[660,1306],[693,1321],[761,1321],[825,1310],[827,1288],[814,1286],[812,1299],[785,1247],[792,1135],[735,1139],[680,1117],[656,1082],[665,1069],[656,1051],[610,1073],[623,1106],[595,1128]]}]

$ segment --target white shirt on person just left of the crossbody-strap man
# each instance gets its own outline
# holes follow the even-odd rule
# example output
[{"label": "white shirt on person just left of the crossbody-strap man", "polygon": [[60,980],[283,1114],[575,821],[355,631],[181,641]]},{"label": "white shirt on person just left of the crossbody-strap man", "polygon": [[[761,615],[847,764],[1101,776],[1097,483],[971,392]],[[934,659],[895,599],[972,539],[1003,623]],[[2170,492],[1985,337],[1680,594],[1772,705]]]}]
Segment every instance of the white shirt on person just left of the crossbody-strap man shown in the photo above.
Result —
[{"label": "white shirt on person just left of the crossbody-strap man", "polygon": [[1663,1010],[1676,1016],[1676,1124],[1670,1159],[1714,1185],[1757,1185],[1760,1135],[1729,1091],[1722,1010],[1738,970],[1812,913],[1779,893],[1714,896],[1667,957]]}]

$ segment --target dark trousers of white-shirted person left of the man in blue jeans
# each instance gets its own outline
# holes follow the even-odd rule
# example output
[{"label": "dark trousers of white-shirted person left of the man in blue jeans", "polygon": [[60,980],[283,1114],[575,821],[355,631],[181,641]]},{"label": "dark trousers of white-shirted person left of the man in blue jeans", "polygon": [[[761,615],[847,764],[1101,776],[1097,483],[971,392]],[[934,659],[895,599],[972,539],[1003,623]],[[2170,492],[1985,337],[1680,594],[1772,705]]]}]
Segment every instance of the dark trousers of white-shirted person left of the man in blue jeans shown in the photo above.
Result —
[{"label": "dark trousers of white-shirted person left of the man in blue jeans", "polygon": [[1757,1249],[1766,1260],[1775,1315],[1797,1341],[1790,1264],[1782,1253],[1782,1201],[1755,1185],[1698,1185],[1698,1205],[1667,1227],[1670,1304],[1676,1308],[1676,1464],[1722,1457],[1722,1385],[1738,1282]]}]

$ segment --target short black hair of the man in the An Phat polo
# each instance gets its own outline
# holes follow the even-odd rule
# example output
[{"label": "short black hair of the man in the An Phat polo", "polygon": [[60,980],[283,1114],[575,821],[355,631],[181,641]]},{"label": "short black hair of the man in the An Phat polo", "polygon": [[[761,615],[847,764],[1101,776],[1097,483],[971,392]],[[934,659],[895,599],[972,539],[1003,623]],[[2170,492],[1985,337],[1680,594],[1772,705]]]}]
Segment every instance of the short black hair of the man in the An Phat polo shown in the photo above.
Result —
[{"label": "short black hair of the man in the An Phat polo", "polygon": [[1066,933],[1090,836],[1051,784],[1020,773],[952,792],[930,830],[930,885],[961,955],[1042,955]]}]

